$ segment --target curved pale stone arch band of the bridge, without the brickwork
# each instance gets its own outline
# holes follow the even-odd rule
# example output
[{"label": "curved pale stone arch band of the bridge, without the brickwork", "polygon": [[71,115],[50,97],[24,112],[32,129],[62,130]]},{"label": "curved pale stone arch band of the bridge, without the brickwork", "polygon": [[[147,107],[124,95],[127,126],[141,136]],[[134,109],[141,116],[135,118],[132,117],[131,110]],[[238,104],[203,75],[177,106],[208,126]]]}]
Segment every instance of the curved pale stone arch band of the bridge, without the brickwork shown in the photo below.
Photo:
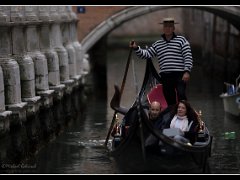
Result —
[{"label": "curved pale stone arch band of the bridge, without the brickwork", "polygon": [[165,10],[170,8],[193,8],[213,13],[240,30],[240,7],[237,6],[134,6],[114,14],[94,28],[83,40],[82,48],[87,52],[98,40],[105,34],[120,26],[126,21],[138,16],[148,14],[154,11]]}]

